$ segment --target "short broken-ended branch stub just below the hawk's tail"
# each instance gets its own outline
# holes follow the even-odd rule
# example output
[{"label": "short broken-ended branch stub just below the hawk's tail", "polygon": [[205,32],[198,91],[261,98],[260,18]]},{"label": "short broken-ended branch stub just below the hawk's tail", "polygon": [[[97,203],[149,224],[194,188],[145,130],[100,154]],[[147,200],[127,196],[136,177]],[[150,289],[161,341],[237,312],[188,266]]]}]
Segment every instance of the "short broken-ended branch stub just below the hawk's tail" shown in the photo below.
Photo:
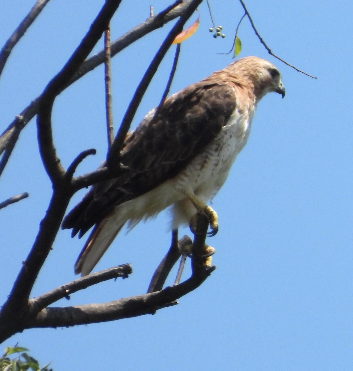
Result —
[{"label": "short broken-ended branch stub just below the hawk's tail", "polygon": [[118,265],[106,270],[102,270],[97,273],[76,279],[72,282],[66,283],[63,286],[60,286],[52,291],[49,291],[43,295],[38,296],[37,298],[31,299],[29,301],[30,312],[37,314],[42,309],[48,305],[55,303],[56,301],[66,298],[69,299],[69,295],[88,288],[89,286],[96,285],[97,283],[109,280],[116,279],[118,277],[128,278],[132,273],[132,267],[130,264]]}]

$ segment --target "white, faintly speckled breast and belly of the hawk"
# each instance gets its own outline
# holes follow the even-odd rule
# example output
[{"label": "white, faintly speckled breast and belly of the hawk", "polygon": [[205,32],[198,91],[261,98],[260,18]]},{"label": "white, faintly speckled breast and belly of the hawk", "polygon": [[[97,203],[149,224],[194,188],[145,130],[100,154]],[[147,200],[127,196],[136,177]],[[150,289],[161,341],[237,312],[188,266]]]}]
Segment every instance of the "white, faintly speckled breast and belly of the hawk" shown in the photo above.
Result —
[{"label": "white, faintly speckled breast and belly of the hawk", "polygon": [[142,219],[146,220],[172,206],[172,229],[189,224],[196,209],[186,193],[193,192],[205,203],[218,193],[228,177],[231,165],[248,140],[252,116],[253,113],[249,117],[236,110],[217,138],[181,173],[153,190],[117,206],[109,218],[111,223],[121,221],[123,224],[129,221],[129,227],[132,228]]}]

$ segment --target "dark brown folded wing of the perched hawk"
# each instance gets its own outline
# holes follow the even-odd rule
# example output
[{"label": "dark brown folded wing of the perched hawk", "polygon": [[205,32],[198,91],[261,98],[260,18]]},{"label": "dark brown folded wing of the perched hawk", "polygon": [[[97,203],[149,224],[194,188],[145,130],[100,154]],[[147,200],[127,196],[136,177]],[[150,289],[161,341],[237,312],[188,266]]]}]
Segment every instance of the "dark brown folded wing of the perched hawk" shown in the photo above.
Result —
[{"label": "dark brown folded wing of the perched hawk", "polygon": [[62,227],[81,237],[115,206],[177,175],[217,136],[235,108],[234,89],[226,83],[204,80],[170,96],[155,118],[150,112],[129,136],[121,151],[129,171],[92,187]]}]

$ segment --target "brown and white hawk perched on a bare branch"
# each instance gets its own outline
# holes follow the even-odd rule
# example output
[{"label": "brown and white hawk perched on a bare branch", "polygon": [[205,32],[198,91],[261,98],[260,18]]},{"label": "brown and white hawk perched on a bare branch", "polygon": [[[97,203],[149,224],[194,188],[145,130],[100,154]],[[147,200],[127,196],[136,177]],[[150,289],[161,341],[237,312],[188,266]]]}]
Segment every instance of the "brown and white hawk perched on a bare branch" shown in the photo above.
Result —
[{"label": "brown and white hawk perched on a bare branch", "polygon": [[244,148],[255,108],[268,92],[285,94],[278,69],[245,57],[169,96],[129,133],[119,160],[128,170],[95,184],[65,217],[63,229],[83,236],[92,226],[75,273],[88,275],[121,228],[172,207],[172,229],[197,211],[217,233],[217,213],[207,206]]}]

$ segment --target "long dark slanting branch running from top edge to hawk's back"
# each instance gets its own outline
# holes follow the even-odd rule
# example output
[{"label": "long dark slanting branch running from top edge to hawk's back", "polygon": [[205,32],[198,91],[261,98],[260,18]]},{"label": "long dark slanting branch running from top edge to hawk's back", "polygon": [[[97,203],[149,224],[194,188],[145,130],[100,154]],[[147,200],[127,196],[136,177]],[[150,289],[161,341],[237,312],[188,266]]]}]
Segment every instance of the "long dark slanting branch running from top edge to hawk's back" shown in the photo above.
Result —
[{"label": "long dark slanting branch running from top edge to hawk's back", "polygon": [[145,74],[143,75],[141,82],[139,83],[135,91],[135,94],[133,95],[133,98],[128,106],[128,109],[126,110],[126,113],[123,117],[122,123],[119,128],[118,134],[116,134],[116,137],[114,139],[113,145],[110,148],[110,151],[108,152],[108,156],[107,156],[108,167],[114,167],[115,164],[119,163],[119,161],[117,160],[119,158],[120,150],[122,148],[126,134],[130,128],[133,117],[135,116],[137,108],[139,104],[141,103],[143,95],[145,94],[150,82],[152,81],[152,78],[155,75],[157,68],[162,62],[162,59],[164,58],[166,52],[169,50],[169,47],[172,45],[173,40],[178,35],[178,33],[181,32],[182,27],[184,26],[184,24],[187,22],[189,17],[192,15],[194,10],[197,8],[197,6],[201,2],[202,0],[191,1],[188,9],[185,10],[184,14],[182,14],[178,22],[174,25],[172,30],[169,32],[168,36],[165,38],[161,47],[158,49],[158,52],[154,56],[151,64],[148,66]]}]

